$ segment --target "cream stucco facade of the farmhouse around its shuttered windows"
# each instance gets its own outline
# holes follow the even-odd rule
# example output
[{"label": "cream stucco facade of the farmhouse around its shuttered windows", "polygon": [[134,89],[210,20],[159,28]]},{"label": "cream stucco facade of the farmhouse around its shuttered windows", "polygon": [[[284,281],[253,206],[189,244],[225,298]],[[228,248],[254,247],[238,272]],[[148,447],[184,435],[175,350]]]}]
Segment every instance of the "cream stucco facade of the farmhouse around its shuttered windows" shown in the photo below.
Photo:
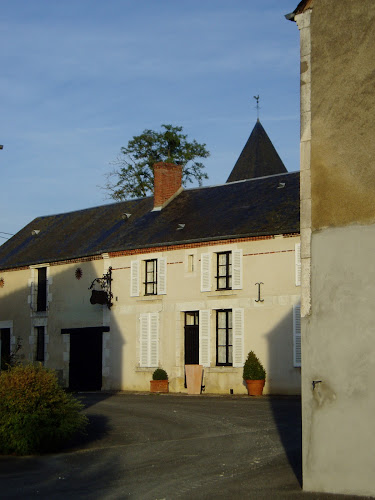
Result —
[{"label": "cream stucco facade of the farmhouse around its shuttered windows", "polygon": [[[25,360],[35,359],[33,339],[36,326],[45,326],[45,365],[59,371],[65,385],[69,381],[70,335],[64,328],[109,326],[103,334],[103,389],[149,390],[154,367],[140,367],[140,322],[142,313],[159,314],[159,366],[169,374],[171,391],[184,388],[184,313],[210,311],[210,367],[205,368],[207,392],[246,393],[242,368],[216,366],[216,310],[244,310],[244,358],[254,350],[267,370],[265,392],[300,392],[300,368],[293,366],[293,305],[300,298],[295,284],[295,245],[299,237],[278,236],[198,248],[165,249],[139,255],[117,255],[88,262],[50,264],[48,267],[48,311],[36,313],[28,304],[33,270],[4,271],[5,286],[0,289],[0,321],[14,320],[15,335],[21,335]],[[216,290],[216,252],[242,249],[243,287]],[[201,255],[211,254],[211,284],[201,292]],[[189,271],[189,256],[194,270]],[[109,258],[108,258],[109,257]],[[135,259],[144,269],[146,259],[164,257],[167,261],[167,293],[144,296],[130,293],[130,266]],[[92,280],[112,266],[113,307],[90,304]],[[82,277],[76,278],[80,268]],[[35,278],[35,277],[34,277]],[[257,282],[262,282],[258,299]],[[35,340],[35,339],[34,339]],[[89,340],[89,339],[88,339]],[[48,345],[47,345],[48,344]]]}]

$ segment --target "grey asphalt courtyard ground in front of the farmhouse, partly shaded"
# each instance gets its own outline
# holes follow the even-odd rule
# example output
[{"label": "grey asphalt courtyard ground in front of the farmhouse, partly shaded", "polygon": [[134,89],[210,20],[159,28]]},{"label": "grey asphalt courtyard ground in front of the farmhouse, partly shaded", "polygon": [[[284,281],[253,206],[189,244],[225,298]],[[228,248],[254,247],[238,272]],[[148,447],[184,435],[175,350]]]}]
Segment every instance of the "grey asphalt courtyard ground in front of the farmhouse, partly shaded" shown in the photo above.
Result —
[{"label": "grey asphalt courtyard ground in front of the farmhouse, partly shaded", "polygon": [[302,491],[299,398],[78,396],[87,436],[1,456],[1,499],[361,498]]}]

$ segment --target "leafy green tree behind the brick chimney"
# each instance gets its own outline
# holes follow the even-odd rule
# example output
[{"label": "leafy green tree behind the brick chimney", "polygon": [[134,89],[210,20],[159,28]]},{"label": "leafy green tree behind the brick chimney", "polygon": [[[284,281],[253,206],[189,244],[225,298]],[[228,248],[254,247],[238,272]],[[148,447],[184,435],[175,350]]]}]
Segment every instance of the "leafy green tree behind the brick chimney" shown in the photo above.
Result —
[{"label": "leafy green tree behind the brick chimney", "polygon": [[134,136],[114,162],[115,169],[106,175],[104,186],[109,197],[116,201],[144,197],[153,192],[155,163],[165,161],[183,166],[182,184],[208,179],[204,165],[197,161],[207,158],[210,153],[205,144],[193,140],[189,142],[182,127],[162,125],[160,132],[144,130]]}]

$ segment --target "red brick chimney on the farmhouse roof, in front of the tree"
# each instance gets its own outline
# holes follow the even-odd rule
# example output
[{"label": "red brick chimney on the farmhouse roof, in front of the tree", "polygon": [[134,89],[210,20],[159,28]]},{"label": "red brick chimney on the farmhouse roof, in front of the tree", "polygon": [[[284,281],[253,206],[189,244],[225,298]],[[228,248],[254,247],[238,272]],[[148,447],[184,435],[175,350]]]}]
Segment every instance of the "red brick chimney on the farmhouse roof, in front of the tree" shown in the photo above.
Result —
[{"label": "red brick chimney on the farmhouse roof, in front of the tree", "polygon": [[182,165],[155,163],[154,210],[161,210],[182,191]]}]

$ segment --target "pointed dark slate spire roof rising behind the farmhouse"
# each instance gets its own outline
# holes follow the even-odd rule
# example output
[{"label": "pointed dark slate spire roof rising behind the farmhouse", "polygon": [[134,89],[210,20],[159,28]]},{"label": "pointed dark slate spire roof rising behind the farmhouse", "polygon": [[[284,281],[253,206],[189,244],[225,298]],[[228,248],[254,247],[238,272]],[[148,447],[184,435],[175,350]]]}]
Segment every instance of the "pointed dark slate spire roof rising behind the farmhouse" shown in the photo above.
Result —
[{"label": "pointed dark slate spire roof rising behind the farmhouse", "polygon": [[284,172],[287,169],[258,119],[227,182]]}]

